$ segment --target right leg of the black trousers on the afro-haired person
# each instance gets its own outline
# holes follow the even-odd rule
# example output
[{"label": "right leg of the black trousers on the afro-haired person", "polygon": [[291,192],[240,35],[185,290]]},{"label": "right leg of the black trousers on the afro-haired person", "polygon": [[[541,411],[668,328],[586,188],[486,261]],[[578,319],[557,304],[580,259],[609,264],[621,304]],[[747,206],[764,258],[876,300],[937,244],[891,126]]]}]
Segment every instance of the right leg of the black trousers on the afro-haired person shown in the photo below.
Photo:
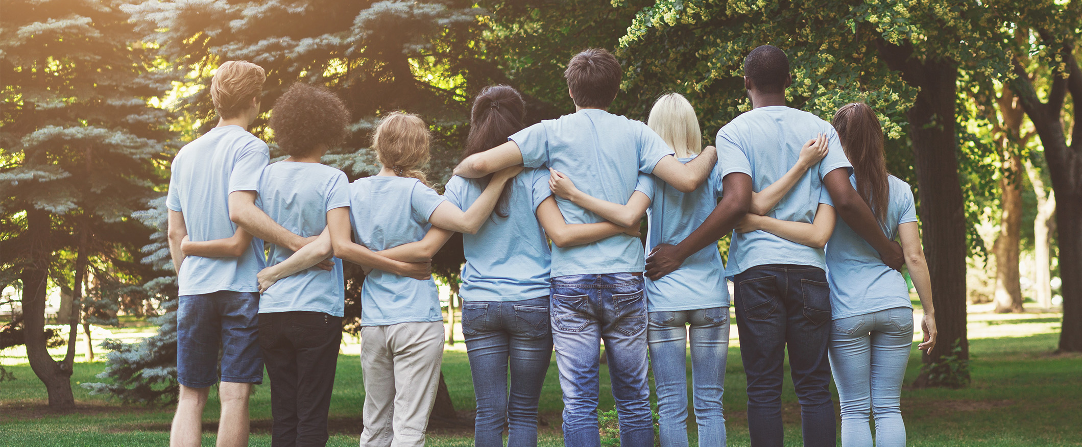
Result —
[{"label": "right leg of the black trousers on the afro-haired person", "polygon": [[[300,314],[293,320],[290,338],[296,346],[296,445],[327,445],[327,413],[331,407],[334,368],[342,345],[342,318],[320,312]],[[270,379],[274,383],[274,379]]]}]

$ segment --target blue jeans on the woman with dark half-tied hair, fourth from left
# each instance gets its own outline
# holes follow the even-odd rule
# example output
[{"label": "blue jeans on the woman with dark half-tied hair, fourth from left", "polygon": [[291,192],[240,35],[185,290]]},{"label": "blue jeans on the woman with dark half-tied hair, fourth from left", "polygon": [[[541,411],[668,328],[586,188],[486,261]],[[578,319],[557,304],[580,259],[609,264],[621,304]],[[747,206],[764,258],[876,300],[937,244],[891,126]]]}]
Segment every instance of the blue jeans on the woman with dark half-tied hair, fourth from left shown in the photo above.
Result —
[{"label": "blue jeans on the woman with dark half-tied hair, fourth from left", "polygon": [[538,402],[552,360],[549,298],[466,301],[462,334],[477,396],[474,445],[502,447],[507,424],[509,447],[537,446]]}]

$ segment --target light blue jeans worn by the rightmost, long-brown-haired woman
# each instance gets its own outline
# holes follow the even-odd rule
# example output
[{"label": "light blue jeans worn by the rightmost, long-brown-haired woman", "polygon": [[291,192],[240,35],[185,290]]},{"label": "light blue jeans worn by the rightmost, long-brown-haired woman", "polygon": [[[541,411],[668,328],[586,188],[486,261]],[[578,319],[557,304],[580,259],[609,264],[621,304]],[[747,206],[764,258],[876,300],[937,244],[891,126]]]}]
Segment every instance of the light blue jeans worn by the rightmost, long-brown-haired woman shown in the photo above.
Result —
[{"label": "light blue jeans worn by the rightmost, long-brown-haired woman", "polygon": [[830,368],[842,404],[842,446],[906,445],[901,381],[913,343],[913,311],[895,307],[834,320]]}]

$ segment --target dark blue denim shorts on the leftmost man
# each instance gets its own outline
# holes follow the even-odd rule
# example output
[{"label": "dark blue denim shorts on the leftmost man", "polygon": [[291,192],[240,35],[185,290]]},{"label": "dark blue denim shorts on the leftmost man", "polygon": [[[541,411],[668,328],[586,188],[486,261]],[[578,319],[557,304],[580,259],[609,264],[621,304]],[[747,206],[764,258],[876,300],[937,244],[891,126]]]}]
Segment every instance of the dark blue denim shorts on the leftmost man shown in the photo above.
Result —
[{"label": "dark blue denim shorts on the leftmost man", "polygon": [[[223,382],[263,383],[259,341],[260,294],[220,290],[180,298],[176,378],[187,387]],[[217,368],[222,352],[221,373]]]}]

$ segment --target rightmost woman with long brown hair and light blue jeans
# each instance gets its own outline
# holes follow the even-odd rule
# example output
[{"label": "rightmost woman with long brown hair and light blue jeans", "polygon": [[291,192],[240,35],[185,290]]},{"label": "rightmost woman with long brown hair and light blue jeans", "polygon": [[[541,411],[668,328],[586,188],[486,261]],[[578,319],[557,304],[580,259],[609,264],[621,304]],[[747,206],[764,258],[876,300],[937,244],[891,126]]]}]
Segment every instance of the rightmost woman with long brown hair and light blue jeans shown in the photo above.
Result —
[{"label": "rightmost woman with long brown hair and light blue jeans", "polygon": [[[924,341],[918,350],[931,351],[936,344],[935,310],[913,194],[906,182],[886,172],[883,128],[871,107],[847,104],[834,114],[833,126],[853,163],[849,181],[854,188],[868,202],[886,237],[901,240],[906,266],[924,311]],[[821,201],[830,200],[823,197]],[[832,211],[823,213],[822,207],[819,213],[833,215]],[[871,447],[870,418],[875,419],[875,446],[905,446],[901,381],[913,340],[909,287],[901,273],[883,264],[875,249],[844,221],[837,221],[831,234],[819,225],[820,216],[817,214],[814,224],[753,218],[752,226],[805,245],[819,244],[824,234],[830,238],[830,366],[842,407],[842,446]]]}]

